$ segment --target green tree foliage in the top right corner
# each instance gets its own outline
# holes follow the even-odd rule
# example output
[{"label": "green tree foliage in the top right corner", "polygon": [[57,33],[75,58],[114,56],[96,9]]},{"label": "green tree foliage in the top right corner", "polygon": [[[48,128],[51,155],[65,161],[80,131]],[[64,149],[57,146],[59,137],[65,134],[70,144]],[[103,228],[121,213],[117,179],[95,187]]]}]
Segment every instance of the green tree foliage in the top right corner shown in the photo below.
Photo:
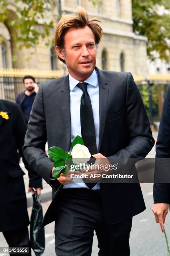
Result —
[{"label": "green tree foliage in the top right corner", "polygon": [[170,0],[132,0],[133,28],[148,37],[147,53],[170,61]]}]

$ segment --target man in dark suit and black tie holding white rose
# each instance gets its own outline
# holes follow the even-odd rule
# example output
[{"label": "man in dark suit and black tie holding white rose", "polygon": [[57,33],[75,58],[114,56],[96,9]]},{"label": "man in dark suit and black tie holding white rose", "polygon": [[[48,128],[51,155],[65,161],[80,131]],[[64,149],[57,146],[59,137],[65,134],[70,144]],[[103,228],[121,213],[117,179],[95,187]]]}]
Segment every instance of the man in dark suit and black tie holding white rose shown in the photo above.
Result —
[{"label": "man in dark suit and black tie holding white rose", "polygon": [[153,147],[132,75],[95,67],[101,36],[97,19],[83,8],[61,18],[56,52],[69,74],[40,84],[25,136],[26,159],[52,186],[53,200],[43,224],[55,220],[57,256],[90,256],[94,230],[99,255],[130,255],[132,217],[145,210],[140,184],[97,182],[89,186],[69,179],[70,171],[52,180],[53,163],[43,152],[46,141],[49,147],[70,151],[72,140],[80,135],[96,159],[106,164],[122,159],[125,165],[129,158],[143,159]]}]

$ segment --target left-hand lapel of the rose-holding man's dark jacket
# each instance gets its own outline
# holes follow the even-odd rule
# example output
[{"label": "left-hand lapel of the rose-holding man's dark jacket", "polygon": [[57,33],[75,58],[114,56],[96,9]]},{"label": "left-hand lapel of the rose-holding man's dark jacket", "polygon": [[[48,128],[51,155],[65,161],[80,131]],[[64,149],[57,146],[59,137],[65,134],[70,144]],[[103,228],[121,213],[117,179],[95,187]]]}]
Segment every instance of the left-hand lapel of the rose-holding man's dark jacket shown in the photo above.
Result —
[{"label": "left-hand lapel of the rose-holding man's dark jacket", "polygon": [[65,129],[66,129],[67,150],[70,151],[71,115],[70,115],[70,87],[69,87],[68,75],[62,80],[60,98],[61,98],[62,116],[63,116]]}]

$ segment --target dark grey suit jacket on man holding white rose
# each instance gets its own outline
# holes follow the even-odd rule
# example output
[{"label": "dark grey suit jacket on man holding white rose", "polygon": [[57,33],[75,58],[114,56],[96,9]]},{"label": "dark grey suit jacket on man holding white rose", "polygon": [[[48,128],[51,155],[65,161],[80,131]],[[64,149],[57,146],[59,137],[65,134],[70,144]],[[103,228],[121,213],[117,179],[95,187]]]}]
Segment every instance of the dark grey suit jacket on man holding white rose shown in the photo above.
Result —
[{"label": "dark grey suit jacket on man holding white rose", "polygon": [[[150,123],[132,74],[97,69],[99,78],[100,135],[98,152],[136,161],[143,159],[154,145]],[[44,153],[48,147],[70,150],[69,78],[42,82],[30,113],[23,147],[30,165],[49,184],[52,161]],[[124,163],[125,164],[125,163]],[[52,184],[53,192],[60,183]],[[119,223],[143,210],[145,203],[140,184],[100,184],[102,207],[108,223]],[[60,193],[59,193],[60,194]],[[55,220],[57,194],[47,210],[44,225]]]}]

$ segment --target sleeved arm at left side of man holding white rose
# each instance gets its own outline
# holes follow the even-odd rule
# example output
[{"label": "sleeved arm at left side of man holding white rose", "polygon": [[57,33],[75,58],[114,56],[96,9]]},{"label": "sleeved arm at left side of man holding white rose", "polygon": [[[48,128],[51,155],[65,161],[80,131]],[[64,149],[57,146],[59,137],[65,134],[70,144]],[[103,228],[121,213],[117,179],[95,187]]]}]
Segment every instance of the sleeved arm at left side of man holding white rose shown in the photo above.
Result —
[{"label": "sleeved arm at left side of man holding white rose", "polygon": [[45,179],[48,184],[52,185],[52,182],[56,183],[57,180],[50,180],[53,162],[44,152],[46,142],[46,120],[41,83],[32,105],[28,130],[25,135],[23,153],[31,168],[36,170],[36,172]]}]

